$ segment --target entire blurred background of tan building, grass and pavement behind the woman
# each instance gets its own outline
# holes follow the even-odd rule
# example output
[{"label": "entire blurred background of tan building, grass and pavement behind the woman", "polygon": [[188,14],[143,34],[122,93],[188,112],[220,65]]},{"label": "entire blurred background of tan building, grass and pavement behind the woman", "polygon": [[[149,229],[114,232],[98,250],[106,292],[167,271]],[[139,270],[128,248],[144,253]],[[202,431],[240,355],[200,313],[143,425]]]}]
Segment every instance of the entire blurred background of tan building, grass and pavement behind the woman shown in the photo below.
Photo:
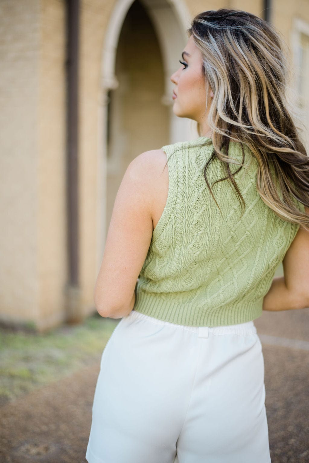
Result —
[{"label": "entire blurred background of tan building, grass and pavement behind the woman", "polygon": [[[0,461],[85,461],[119,322],[93,302],[115,196],[143,151],[198,137],[173,114],[170,76],[192,18],[221,7],[281,34],[309,149],[309,0],[0,0]],[[309,462],[308,322],[255,322],[272,462]]]}]

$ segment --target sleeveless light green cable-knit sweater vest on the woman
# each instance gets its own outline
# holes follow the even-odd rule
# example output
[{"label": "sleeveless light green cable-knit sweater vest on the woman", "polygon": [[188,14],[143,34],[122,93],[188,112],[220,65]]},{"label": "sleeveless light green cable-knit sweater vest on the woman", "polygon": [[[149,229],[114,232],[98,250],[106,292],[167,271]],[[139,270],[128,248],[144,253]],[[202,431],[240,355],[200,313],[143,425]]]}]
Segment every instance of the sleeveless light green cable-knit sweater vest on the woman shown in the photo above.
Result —
[{"label": "sleeveless light green cable-knit sweater vest on the woman", "polygon": [[[263,298],[299,225],[278,217],[256,188],[258,162],[243,144],[245,166],[234,175],[241,204],[228,180],[212,192],[204,179],[212,140],[163,146],[168,163],[168,195],[154,228],[136,285],[134,309],[179,325],[222,326],[262,314]],[[231,142],[229,157],[242,162],[241,144]],[[207,168],[210,187],[227,175],[216,156]],[[234,173],[239,164],[229,164]],[[293,199],[295,200],[295,199]],[[296,201],[296,200],[295,200]],[[296,201],[304,212],[302,203]]]}]

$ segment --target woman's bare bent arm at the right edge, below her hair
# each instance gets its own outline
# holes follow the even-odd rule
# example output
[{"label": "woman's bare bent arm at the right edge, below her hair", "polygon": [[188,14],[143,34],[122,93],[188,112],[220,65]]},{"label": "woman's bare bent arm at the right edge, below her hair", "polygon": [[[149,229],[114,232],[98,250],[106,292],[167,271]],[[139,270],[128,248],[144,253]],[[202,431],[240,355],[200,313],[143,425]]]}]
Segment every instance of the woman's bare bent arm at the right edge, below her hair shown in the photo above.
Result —
[{"label": "woman's bare bent arm at the right edge, below her hair", "polygon": [[[309,208],[305,207],[309,214]],[[299,229],[283,259],[284,276],[274,278],[263,300],[263,310],[309,307],[309,232]]]}]

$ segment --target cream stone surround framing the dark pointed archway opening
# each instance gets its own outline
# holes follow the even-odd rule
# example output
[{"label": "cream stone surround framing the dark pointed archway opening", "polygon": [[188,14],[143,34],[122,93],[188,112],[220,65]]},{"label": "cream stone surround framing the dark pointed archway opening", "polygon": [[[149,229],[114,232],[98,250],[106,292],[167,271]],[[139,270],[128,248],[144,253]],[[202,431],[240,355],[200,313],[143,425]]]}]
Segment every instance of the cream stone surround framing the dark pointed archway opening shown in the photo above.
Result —
[{"label": "cream stone surround framing the dark pointed archway opening", "polygon": [[[181,50],[183,50],[187,42],[186,29],[190,26],[190,13],[187,6],[179,0],[140,0],[140,3],[151,19],[161,52],[164,73],[164,91],[161,95],[161,104],[167,106],[169,114],[169,140],[167,140],[167,143],[175,143],[192,138],[192,121],[178,118],[173,114],[172,93],[174,86],[170,81],[170,76],[179,66],[178,60]],[[117,47],[125,18],[132,4],[132,0],[118,0],[116,2],[105,31],[102,50],[98,130],[98,269],[104,249],[107,232],[106,225],[109,222],[109,217],[107,217],[108,206],[105,203],[108,193],[107,178],[109,167],[107,162],[108,146],[106,142],[107,122],[109,119],[109,115],[107,114],[109,93],[119,86],[119,81],[115,73]]]}]

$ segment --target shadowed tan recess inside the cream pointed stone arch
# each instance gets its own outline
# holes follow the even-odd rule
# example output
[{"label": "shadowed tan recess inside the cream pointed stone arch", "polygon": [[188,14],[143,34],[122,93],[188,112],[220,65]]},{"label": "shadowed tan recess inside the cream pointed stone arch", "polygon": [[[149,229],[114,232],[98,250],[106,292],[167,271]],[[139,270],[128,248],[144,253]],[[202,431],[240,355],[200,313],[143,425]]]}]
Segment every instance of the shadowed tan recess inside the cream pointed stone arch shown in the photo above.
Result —
[{"label": "shadowed tan recess inside the cream pointed stone arch", "polygon": [[132,3],[124,19],[117,44],[115,75],[119,84],[109,92],[108,102],[107,224],[130,161],[169,140],[169,107],[161,102],[164,73],[160,47],[139,0]]}]

